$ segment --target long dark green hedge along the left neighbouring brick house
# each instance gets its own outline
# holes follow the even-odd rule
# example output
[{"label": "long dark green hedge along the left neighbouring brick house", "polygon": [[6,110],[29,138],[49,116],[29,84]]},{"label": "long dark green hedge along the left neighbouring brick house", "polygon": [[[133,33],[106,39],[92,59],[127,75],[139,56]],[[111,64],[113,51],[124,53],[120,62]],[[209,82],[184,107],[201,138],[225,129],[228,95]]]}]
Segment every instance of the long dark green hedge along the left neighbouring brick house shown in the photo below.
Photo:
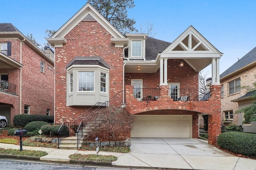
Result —
[{"label": "long dark green hedge along the left neighbouring brick house", "polygon": [[16,127],[25,127],[30,122],[34,121],[44,121],[48,123],[54,122],[53,116],[47,116],[47,115],[15,115],[13,119],[14,126]]}]

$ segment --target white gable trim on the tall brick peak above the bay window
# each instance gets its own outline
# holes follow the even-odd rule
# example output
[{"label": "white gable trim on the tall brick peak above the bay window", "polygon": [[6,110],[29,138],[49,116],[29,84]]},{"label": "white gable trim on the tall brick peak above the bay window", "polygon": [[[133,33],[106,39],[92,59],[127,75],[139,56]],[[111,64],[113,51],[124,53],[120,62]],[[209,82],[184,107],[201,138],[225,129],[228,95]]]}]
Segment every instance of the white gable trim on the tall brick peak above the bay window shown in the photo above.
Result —
[{"label": "white gable trim on the tall brick peak above the bay window", "polygon": [[79,22],[90,14],[100,25],[102,25],[114,38],[124,36],[114,28],[91,4],[86,3],[70,20],[68,20],[51,38],[64,38]]}]

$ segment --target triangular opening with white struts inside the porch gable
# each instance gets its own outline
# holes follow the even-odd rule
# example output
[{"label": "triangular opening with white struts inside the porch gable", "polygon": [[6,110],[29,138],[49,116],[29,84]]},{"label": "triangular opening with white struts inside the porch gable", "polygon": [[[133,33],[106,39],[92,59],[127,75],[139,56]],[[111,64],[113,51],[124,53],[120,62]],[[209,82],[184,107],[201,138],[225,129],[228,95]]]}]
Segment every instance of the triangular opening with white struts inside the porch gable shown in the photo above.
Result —
[{"label": "triangular opening with white struts inside the porch gable", "polygon": [[204,45],[204,42],[190,33],[172,51],[209,51],[209,49]]}]

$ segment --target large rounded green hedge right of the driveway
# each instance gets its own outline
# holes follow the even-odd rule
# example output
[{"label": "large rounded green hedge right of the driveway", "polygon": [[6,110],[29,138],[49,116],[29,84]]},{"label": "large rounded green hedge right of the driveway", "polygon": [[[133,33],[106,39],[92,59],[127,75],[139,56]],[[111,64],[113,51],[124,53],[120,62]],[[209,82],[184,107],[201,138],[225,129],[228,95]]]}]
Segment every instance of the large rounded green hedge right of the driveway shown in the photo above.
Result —
[{"label": "large rounded green hedge right of the driveway", "polygon": [[218,136],[217,144],[231,152],[256,157],[256,134],[224,132]]}]

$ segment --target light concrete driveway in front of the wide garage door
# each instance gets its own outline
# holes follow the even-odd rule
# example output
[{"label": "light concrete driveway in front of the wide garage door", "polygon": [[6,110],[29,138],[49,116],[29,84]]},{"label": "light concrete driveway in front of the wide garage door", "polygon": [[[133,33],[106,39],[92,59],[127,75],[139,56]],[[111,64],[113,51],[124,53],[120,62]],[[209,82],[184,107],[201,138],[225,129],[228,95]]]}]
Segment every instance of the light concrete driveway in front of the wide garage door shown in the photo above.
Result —
[{"label": "light concrete driveway in front of the wide garage door", "polygon": [[197,170],[256,170],[256,160],[236,157],[193,138],[132,138],[131,152],[113,165]]}]

